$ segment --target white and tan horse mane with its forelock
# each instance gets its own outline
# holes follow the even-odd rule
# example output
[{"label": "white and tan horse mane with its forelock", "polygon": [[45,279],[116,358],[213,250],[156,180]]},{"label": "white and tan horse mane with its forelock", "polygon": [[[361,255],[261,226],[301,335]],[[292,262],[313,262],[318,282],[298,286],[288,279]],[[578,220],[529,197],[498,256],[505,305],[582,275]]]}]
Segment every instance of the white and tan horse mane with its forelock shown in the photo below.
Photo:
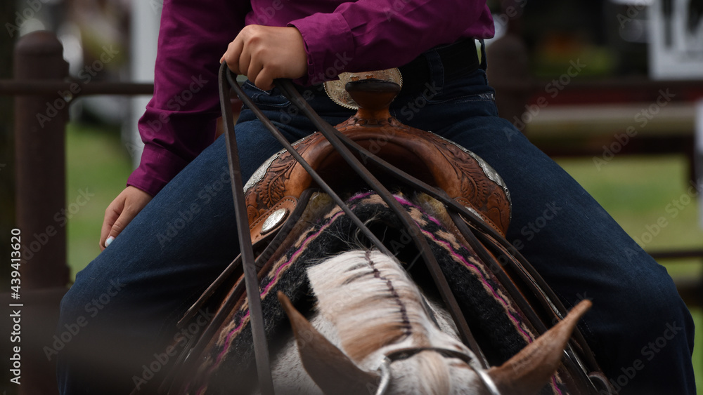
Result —
[{"label": "white and tan horse mane with its forelock", "polygon": [[[394,257],[350,251],[310,267],[308,277],[318,312],[334,324],[342,349],[359,366],[373,370],[386,352],[437,345],[438,337],[446,347],[466,351],[435,326],[423,295]],[[411,362],[414,372],[406,374],[417,375],[413,381],[425,387],[420,393],[447,394],[446,362],[435,352],[420,352]]]}]

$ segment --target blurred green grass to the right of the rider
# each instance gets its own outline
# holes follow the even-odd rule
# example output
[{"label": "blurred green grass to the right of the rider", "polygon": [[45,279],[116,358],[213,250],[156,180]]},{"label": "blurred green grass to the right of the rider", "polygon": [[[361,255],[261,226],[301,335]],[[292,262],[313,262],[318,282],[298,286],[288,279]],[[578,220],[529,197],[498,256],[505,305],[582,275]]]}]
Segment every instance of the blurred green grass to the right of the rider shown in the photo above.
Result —
[{"label": "blurred green grass to the right of the rider", "polygon": [[[687,199],[691,175],[685,156],[616,156],[600,170],[591,158],[557,159],[557,163],[648,252],[703,248],[697,196]],[[666,223],[659,232],[657,222]],[[674,279],[703,274],[700,259],[659,263]],[[697,329],[693,366],[697,392],[703,394],[703,311],[691,309],[691,314]]]}]

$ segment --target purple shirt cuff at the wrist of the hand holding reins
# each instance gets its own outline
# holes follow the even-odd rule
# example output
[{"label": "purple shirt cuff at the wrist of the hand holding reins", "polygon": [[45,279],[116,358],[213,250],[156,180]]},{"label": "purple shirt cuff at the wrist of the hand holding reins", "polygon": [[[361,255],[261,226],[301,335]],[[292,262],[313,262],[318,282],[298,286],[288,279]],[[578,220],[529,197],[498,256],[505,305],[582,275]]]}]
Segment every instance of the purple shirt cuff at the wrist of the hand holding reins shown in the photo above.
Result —
[{"label": "purple shirt cuff at the wrist of the hand holding reins", "polygon": [[315,13],[293,20],[288,26],[295,27],[302,35],[308,57],[307,79],[295,82],[316,85],[335,79],[354,59],[352,29],[340,13]]}]

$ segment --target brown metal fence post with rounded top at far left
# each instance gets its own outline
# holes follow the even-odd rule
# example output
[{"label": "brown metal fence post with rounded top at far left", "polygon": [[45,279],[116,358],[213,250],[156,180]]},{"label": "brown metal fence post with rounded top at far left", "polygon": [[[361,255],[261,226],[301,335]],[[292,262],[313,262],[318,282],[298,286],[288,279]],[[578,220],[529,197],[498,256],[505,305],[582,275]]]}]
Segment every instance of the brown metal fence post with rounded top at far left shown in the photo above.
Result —
[{"label": "brown metal fence post with rounded top at far left", "polygon": [[[15,46],[15,79],[63,80],[68,64],[50,32],[32,32]],[[17,224],[22,232],[22,288],[65,287],[65,127],[68,103],[60,92],[15,98]],[[57,218],[59,220],[57,220]]]}]

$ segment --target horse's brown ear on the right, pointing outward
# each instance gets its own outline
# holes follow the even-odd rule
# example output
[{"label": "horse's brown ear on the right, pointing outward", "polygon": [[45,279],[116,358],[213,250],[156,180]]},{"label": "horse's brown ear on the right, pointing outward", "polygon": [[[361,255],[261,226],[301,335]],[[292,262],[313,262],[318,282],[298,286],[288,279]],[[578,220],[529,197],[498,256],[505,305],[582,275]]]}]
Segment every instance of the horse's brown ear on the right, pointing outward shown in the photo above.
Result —
[{"label": "horse's brown ear on the right, pointing outward", "polygon": [[488,374],[501,394],[536,394],[548,382],[562,360],[562,354],[581,316],[591,308],[591,301],[582,300],[563,321],[531,342],[522,351]]}]

